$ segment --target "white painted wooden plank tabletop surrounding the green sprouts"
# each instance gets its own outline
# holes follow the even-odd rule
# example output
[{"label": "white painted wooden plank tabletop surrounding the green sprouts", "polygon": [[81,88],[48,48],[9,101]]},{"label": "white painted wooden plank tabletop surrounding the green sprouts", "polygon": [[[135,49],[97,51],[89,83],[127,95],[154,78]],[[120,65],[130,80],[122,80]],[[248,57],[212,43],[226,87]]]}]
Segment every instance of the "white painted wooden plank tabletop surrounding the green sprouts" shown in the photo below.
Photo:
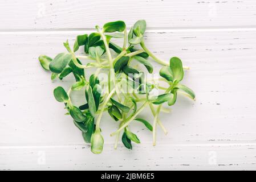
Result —
[{"label": "white painted wooden plank tabletop surrounding the green sprouts", "polygon": [[[256,1],[35,1],[0,0],[0,169],[256,169]],[[163,59],[178,56],[191,69],[172,113],[161,115],[157,145],[140,124],[141,144],[113,150],[101,122],[104,151],[94,155],[64,115],[38,56],[63,52],[62,42],[96,24],[147,20],[148,47]],[[82,50],[80,51],[82,52]],[[157,68],[160,68],[159,66]],[[77,98],[74,98],[78,100]],[[143,117],[150,117],[145,111]]]}]

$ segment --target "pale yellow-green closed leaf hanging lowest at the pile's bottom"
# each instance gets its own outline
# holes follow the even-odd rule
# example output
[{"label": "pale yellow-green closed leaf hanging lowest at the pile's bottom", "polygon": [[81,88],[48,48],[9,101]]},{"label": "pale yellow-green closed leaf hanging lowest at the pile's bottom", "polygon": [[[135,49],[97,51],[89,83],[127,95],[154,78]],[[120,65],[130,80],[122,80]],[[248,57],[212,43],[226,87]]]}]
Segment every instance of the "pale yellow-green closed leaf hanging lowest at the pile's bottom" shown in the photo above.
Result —
[{"label": "pale yellow-green closed leaf hanging lowest at the pile's bottom", "polygon": [[100,129],[96,129],[91,137],[91,151],[94,154],[100,154],[103,150],[104,139],[100,134]]}]

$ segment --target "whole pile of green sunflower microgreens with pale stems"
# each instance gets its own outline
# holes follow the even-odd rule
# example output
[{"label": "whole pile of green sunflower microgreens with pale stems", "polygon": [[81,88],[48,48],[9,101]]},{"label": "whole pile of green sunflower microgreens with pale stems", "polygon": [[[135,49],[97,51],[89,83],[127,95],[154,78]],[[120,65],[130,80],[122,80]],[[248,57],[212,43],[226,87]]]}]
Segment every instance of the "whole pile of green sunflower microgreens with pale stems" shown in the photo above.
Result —
[{"label": "whole pile of green sunflower microgreens with pale stems", "polygon": [[[96,26],[96,32],[90,35],[78,35],[73,49],[67,42],[63,43],[67,52],[59,53],[51,59],[40,55],[39,61],[43,69],[51,71],[51,79],[58,77],[60,80],[73,73],[75,82],[66,92],[58,86],[54,89],[54,97],[63,102],[80,131],[86,143],[91,143],[91,151],[100,154],[103,151],[104,139],[101,135],[100,121],[104,112],[107,112],[114,122],[119,123],[119,129],[111,133],[116,135],[115,146],[121,141],[128,149],[132,149],[132,142],[140,143],[136,134],[132,133],[129,126],[132,122],[142,123],[153,133],[153,145],[156,144],[157,125],[166,134],[167,131],[159,119],[160,111],[166,109],[163,104],[172,106],[177,100],[177,92],[185,92],[194,100],[195,94],[187,86],[180,84],[184,76],[182,62],[178,57],[164,61],[153,55],[145,46],[144,34],[145,20],[137,21],[127,33],[123,21],[105,23],[103,28]],[[123,39],[123,45],[118,46],[115,39]],[[86,55],[77,55],[75,52],[84,47]],[[151,60],[164,65],[159,75],[162,77],[148,79],[153,75]],[[79,59],[90,60],[83,65]],[[133,61],[134,60],[134,61]],[[146,72],[143,71],[143,65]],[[86,69],[96,68],[92,75],[86,75]],[[100,74],[108,72],[107,79],[101,80]],[[148,73],[147,73],[148,72]],[[159,81],[160,84],[156,83]],[[165,87],[161,84],[165,84]],[[167,85],[167,87],[166,87]],[[84,104],[75,106],[70,95],[74,90],[84,92]],[[157,93],[157,94],[156,94]],[[153,126],[149,121],[139,117],[141,111],[148,107],[152,111]]]}]

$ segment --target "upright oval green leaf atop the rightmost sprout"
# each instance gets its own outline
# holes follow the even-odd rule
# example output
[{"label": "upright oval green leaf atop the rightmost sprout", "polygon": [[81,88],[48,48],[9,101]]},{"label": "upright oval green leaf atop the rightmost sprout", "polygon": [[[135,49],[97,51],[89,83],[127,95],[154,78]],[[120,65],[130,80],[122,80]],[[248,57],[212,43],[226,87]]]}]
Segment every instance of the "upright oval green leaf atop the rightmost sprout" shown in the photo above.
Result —
[{"label": "upright oval green leaf atop the rightmost sprout", "polygon": [[172,69],[175,80],[181,81],[184,75],[182,62],[178,57],[170,59],[170,69]]}]

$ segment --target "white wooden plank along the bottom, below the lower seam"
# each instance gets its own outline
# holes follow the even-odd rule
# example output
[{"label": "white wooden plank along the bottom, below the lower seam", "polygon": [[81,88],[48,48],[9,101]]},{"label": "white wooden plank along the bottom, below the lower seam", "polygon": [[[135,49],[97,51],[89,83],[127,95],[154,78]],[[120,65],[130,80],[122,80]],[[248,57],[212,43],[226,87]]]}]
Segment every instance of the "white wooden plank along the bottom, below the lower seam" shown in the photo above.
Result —
[{"label": "white wooden plank along the bottom, below the lower seam", "polygon": [[[105,145],[100,155],[89,146],[0,147],[0,170],[255,170],[255,144],[193,146],[159,144],[132,151]],[[148,150],[151,148],[151,150]],[[142,150],[143,149],[143,150]],[[109,156],[115,155],[115,159]]]}]

